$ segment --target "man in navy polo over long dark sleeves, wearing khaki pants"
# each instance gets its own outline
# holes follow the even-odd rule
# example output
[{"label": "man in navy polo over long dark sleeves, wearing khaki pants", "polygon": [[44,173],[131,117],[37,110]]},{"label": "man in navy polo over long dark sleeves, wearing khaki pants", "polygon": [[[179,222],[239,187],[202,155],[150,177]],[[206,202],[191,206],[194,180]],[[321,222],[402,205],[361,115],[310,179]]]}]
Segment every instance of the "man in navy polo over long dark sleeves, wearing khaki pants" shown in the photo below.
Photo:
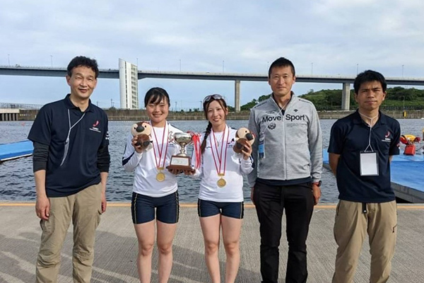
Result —
[{"label": "man in navy polo over long dark sleeves, wearing khaki pants", "polygon": [[106,211],[107,115],[90,101],[98,64],[75,57],[67,72],[71,93],[43,106],[28,135],[34,143],[35,212],[42,227],[36,282],[57,282],[71,219],[73,282],[90,282],[95,229]]}]

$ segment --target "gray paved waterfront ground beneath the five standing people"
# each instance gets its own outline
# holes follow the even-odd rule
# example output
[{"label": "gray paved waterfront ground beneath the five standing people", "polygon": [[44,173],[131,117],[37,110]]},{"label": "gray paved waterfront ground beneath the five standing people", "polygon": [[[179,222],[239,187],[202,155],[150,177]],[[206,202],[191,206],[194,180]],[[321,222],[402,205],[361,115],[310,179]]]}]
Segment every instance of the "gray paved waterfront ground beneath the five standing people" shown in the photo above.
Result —
[{"label": "gray paved waterfront ground beneath the five standing people", "polygon": [[[332,227],[334,205],[319,205],[314,211],[308,238],[308,282],[331,282],[336,244]],[[400,204],[398,241],[389,282],[424,282],[424,206]],[[285,276],[287,245],[281,245],[280,281]],[[72,282],[72,235],[62,250],[59,282]],[[0,282],[34,282],[35,258],[40,243],[40,226],[34,204],[0,202]],[[260,282],[259,223],[254,208],[245,209],[241,238],[241,264],[237,282]],[[355,282],[368,282],[370,255],[365,243]],[[136,271],[137,243],[129,204],[110,204],[98,228],[92,282],[139,282]],[[157,252],[153,255],[153,278],[157,282]],[[220,249],[223,270],[225,254]],[[196,207],[181,208],[174,244],[170,282],[208,282],[204,244]]]}]

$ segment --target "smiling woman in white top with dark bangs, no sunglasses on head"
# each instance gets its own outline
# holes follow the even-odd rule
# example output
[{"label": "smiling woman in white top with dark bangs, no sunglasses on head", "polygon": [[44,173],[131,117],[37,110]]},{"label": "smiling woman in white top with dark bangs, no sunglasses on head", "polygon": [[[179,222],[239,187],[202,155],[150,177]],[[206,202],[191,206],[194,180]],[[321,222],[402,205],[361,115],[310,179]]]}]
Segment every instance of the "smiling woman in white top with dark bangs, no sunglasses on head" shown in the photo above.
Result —
[{"label": "smiling woman in white top with dark bangs, no sunglasses on head", "polygon": [[[146,148],[137,144],[131,134],[127,138],[122,166],[135,171],[131,215],[139,241],[137,268],[141,282],[151,282],[151,261],[155,243],[155,219],[159,253],[159,282],[167,282],[172,269],[172,241],[179,216],[177,177],[179,171],[167,171],[172,155],[179,146],[170,141],[172,134],[182,132],[172,127],[166,118],[170,98],[163,88],[151,88],[144,98],[152,126],[152,144]],[[156,212],[156,213],[155,213]]]}]

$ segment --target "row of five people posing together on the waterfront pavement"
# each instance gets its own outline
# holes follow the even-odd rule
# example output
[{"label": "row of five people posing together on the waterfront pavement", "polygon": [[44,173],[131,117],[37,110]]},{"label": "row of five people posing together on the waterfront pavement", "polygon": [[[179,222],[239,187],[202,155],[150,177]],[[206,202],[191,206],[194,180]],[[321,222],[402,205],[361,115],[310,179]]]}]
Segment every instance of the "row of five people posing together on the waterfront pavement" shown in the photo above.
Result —
[{"label": "row of five people posing together on the waterfront pavement", "polygon": [[[95,229],[106,211],[110,154],[105,112],[90,102],[97,84],[94,59],[75,57],[67,68],[71,93],[45,105],[28,138],[34,143],[36,214],[42,228],[36,282],[56,282],[61,246],[73,222],[73,280],[90,282]],[[271,96],[252,108],[247,128],[254,143],[233,151],[236,129],[227,125],[223,96],[203,100],[208,126],[193,134],[192,164],[167,169],[180,150],[172,142],[182,132],[167,122],[170,97],[151,88],[144,98],[151,143],[126,139],[122,166],[135,171],[131,216],[139,243],[141,282],[151,282],[153,246],[158,247],[158,281],[172,270],[172,241],[179,219],[176,175],[199,178],[198,214],[211,282],[220,282],[218,247],[222,231],[225,282],[235,282],[240,265],[244,215],[243,175],[260,224],[262,282],[278,282],[282,217],[288,241],[285,282],[307,282],[307,234],[321,197],[322,131],[313,103],[292,91],[295,67],[283,57],[269,67]],[[370,282],[387,282],[396,241],[396,202],[390,187],[391,156],[399,154],[399,122],[379,111],[387,83],[364,71],[354,82],[358,109],[334,123],[329,164],[339,202],[334,237],[338,245],[332,282],[353,282],[366,233],[370,238]]]}]

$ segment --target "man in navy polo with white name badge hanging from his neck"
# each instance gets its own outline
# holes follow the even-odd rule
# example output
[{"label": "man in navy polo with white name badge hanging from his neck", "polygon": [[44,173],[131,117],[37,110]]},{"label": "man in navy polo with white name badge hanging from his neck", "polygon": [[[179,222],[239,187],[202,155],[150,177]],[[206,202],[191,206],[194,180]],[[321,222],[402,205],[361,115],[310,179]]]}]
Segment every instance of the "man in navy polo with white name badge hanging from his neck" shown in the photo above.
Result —
[{"label": "man in navy polo with white name badge hanging from his neck", "polygon": [[358,110],[334,123],[328,150],[340,193],[332,282],[353,282],[366,233],[370,238],[370,282],[387,282],[397,223],[390,161],[399,154],[401,129],[399,122],[379,111],[387,88],[382,74],[364,71],[353,86]]}]

